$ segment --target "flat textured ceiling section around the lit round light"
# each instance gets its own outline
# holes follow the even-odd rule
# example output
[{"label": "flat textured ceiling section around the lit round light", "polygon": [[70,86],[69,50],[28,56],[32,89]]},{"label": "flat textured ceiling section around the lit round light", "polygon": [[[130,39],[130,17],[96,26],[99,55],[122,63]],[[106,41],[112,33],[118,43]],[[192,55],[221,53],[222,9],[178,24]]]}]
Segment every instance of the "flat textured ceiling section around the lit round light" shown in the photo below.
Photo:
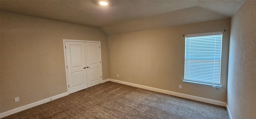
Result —
[{"label": "flat textured ceiling section around the lit round light", "polygon": [[1,0],[2,11],[104,27],[196,6],[195,0],[111,0],[107,7],[96,0]]}]

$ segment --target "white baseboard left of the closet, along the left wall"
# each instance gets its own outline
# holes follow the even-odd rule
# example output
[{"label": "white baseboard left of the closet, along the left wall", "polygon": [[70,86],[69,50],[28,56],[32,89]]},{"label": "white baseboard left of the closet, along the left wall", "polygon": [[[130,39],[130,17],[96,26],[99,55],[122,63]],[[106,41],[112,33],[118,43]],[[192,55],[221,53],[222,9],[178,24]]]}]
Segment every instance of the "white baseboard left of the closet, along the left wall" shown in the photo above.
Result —
[{"label": "white baseboard left of the closet, along the left wall", "polygon": [[16,109],[12,109],[12,110],[9,110],[9,111],[6,111],[6,112],[3,112],[3,113],[0,113],[0,118],[3,118],[3,117],[6,117],[6,116],[9,116],[9,115],[12,115],[14,113],[18,113],[20,111],[23,111],[23,110],[26,110],[26,109],[29,109],[29,108],[32,108],[32,107],[35,107],[35,106],[38,106],[38,105],[41,105],[43,103],[47,103],[49,101],[52,101],[54,99],[58,99],[58,98],[61,98],[61,97],[64,97],[64,96],[67,96],[68,95],[68,92],[65,92],[63,94],[59,94],[59,95],[56,95],[56,96],[52,96],[50,98],[46,98],[46,99],[43,99],[43,100],[40,100],[40,101],[37,101],[37,102],[34,102],[34,103],[30,103],[28,105],[24,105],[22,107],[18,107]]}]

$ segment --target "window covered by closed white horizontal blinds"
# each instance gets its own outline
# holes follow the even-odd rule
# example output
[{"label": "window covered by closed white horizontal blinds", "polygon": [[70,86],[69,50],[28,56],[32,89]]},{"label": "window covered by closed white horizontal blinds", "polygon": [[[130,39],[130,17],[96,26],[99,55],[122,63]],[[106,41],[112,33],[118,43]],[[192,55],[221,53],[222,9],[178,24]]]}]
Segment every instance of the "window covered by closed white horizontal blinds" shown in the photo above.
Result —
[{"label": "window covered by closed white horizontal blinds", "polygon": [[222,32],[186,35],[185,44],[183,82],[221,88]]}]

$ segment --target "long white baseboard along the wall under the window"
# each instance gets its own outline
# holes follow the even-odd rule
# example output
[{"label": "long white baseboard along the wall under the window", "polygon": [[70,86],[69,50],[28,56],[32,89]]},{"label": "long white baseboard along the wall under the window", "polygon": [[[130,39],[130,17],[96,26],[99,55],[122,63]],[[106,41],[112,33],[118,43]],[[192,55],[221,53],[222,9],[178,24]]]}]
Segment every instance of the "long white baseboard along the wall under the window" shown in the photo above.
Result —
[{"label": "long white baseboard along the wall under the window", "polygon": [[163,93],[163,94],[169,94],[169,95],[177,96],[177,97],[181,97],[181,98],[187,98],[187,99],[192,99],[192,100],[201,101],[201,102],[205,102],[205,103],[210,103],[210,104],[214,104],[214,105],[220,105],[220,106],[224,106],[224,107],[227,106],[226,102],[218,101],[218,100],[214,100],[214,99],[201,98],[201,97],[197,97],[197,96],[181,94],[181,93],[172,92],[172,91],[168,91],[168,90],[162,90],[162,89],[158,89],[158,88],[152,88],[152,87],[143,86],[143,85],[139,85],[139,84],[124,82],[124,81],[120,81],[120,80],[109,79],[109,81],[117,82],[117,83],[120,83],[120,84],[125,84],[125,85],[128,85],[128,86],[134,86],[134,87],[137,87],[137,88],[143,88],[143,89],[146,89],[146,90],[152,90],[152,91],[160,92],[160,93]]}]

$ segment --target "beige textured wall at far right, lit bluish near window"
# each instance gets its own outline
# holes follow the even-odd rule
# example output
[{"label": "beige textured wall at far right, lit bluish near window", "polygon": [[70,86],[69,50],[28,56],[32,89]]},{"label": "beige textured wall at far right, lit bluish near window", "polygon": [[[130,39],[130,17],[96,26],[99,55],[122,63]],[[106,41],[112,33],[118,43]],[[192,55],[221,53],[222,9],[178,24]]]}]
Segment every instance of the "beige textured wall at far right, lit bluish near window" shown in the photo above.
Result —
[{"label": "beige textured wall at far right, lit bluish near window", "polygon": [[256,119],[256,1],[246,1],[232,17],[228,69],[233,119]]}]

